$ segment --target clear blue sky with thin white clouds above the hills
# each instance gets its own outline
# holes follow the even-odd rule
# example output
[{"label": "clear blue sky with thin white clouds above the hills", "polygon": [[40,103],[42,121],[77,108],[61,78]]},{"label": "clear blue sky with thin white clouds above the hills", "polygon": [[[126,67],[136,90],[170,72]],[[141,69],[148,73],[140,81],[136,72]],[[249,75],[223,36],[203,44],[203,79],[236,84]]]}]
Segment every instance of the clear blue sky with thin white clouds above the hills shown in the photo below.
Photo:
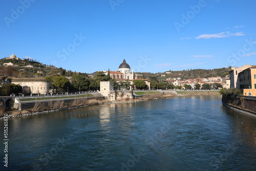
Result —
[{"label": "clear blue sky with thin white clouds above the hills", "polygon": [[1,1],[0,58],[67,70],[164,72],[255,65],[256,1]]}]

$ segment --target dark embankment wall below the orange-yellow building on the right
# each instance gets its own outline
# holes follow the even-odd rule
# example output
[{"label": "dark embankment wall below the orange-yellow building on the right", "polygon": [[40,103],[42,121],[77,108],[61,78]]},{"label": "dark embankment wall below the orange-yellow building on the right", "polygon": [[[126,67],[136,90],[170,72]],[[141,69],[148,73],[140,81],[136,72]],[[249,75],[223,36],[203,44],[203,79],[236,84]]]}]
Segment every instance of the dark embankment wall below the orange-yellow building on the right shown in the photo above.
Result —
[{"label": "dark embankment wall below the orange-yellow building on the right", "polygon": [[226,96],[223,94],[222,102],[256,113],[256,97],[253,96]]}]

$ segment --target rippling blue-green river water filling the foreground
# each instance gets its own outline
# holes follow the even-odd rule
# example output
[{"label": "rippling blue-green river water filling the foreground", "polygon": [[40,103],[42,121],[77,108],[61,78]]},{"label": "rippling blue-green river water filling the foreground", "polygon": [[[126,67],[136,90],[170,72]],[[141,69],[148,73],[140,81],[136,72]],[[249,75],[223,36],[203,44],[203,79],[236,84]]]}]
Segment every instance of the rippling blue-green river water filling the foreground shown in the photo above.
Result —
[{"label": "rippling blue-green river water filling the foreground", "polygon": [[[0,170],[256,170],[256,117],[220,95],[87,106],[8,120]],[[4,121],[0,121],[4,139]]]}]

